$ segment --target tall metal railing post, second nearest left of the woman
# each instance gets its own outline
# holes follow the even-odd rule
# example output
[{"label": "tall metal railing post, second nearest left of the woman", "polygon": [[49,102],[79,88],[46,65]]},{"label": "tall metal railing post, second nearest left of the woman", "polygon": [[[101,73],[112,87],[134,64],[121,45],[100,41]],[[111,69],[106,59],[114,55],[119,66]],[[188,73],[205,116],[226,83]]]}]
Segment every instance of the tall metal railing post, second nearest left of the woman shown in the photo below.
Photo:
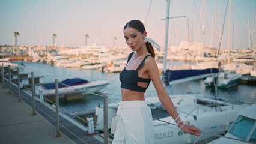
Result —
[{"label": "tall metal railing post, second nearest left of the woman", "polygon": [[55,137],[60,137],[59,133],[59,86],[58,79],[55,79],[55,109],[56,109],[56,133]]}]

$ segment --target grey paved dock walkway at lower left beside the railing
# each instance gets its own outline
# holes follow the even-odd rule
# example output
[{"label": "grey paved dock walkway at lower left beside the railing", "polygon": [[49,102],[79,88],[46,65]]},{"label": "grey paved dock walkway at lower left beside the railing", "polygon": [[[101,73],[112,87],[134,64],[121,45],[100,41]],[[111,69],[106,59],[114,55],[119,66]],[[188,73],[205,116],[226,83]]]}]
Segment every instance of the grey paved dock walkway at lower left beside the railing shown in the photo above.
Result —
[{"label": "grey paved dock walkway at lower left beside the railing", "polygon": [[31,101],[26,95],[22,95],[22,102],[17,102],[17,95],[9,94],[9,90],[1,85],[0,98],[0,143],[102,144],[92,136],[85,136],[84,131],[61,116],[61,137],[55,137],[55,119],[52,119],[55,113],[47,110],[47,107],[40,107],[40,103],[36,101],[36,115],[32,115]]}]

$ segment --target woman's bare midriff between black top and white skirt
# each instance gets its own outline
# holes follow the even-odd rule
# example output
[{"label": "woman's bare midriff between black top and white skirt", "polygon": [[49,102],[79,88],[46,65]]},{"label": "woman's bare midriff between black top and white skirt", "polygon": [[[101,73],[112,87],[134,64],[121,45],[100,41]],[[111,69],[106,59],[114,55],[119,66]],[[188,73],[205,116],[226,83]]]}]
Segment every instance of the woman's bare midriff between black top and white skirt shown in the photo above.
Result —
[{"label": "woman's bare midriff between black top and white skirt", "polygon": [[122,101],[145,100],[145,92],[137,92],[129,89],[121,88]]}]

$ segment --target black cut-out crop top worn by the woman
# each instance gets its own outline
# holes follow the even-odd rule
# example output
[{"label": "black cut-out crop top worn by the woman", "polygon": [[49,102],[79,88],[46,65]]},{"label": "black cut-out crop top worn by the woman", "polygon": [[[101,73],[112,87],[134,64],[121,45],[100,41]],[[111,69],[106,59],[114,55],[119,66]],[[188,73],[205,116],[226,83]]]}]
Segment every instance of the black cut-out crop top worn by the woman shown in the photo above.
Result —
[{"label": "black cut-out crop top worn by the woman", "polygon": [[[133,52],[130,53],[128,57],[127,63],[130,61],[130,58],[132,58]],[[124,70],[121,71],[119,79],[121,81],[121,88],[129,89],[132,91],[138,91],[138,92],[145,92],[148,88],[151,79],[145,79],[138,76],[138,70],[142,67],[142,65],[145,62],[145,59],[147,59],[148,56],[145,56],[145,58],[142,60],[141,64],[139,64],[139,67],[136,70],[126,70],[126,67],[124,67]],[[127,64],[126,64],[127,65]],[[138,82],[144,82],[148,83],[147,88],[143,88],[141,86],[138,86]]]}]

